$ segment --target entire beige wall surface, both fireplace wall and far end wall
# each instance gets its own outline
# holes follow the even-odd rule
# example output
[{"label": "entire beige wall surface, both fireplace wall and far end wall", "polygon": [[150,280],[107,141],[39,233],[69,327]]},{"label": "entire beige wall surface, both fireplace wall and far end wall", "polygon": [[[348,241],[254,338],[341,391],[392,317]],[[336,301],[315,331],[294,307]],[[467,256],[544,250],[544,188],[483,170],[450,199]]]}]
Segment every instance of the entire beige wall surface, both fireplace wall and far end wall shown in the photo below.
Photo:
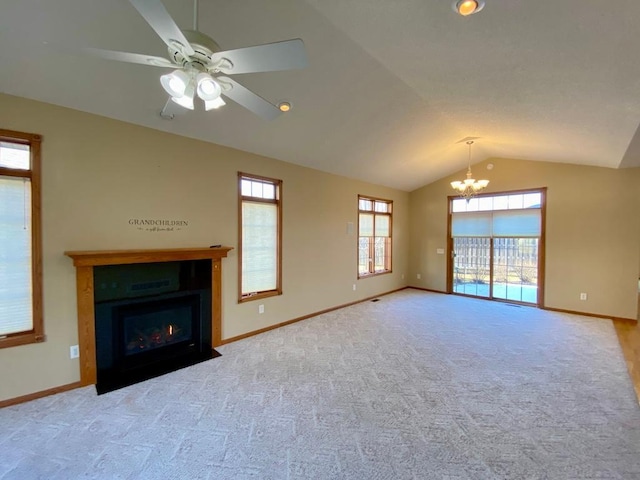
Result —
[{"label": "entire beige wall surface, both fireplace wall and far end wall", "polygon": [[[47,341],[0,350],[0,400],[72,383],[78,361],[75,270],[65,250],[237,245],[237,171],[280,178],[284,294],[237,303],[237,255],[223,261],[223,338],[411,285],[446,289],[450,178],[408,194],[0,94],[0,125],[43,135],[44,315]],[[488,191],[548,187],[546,306],[636,318],[640,169],[493,159],[474,166]],[[357,195],[394,200],[394,271],[356,280]],[[187,220],[174,232],[131,218]],[[422,275],[421,280],[416,275]],[[406,274],[406,280],[402,275]],[[357,291],[352,285],[357,284]],[[578,300],[587,292],[587,302]]]}]

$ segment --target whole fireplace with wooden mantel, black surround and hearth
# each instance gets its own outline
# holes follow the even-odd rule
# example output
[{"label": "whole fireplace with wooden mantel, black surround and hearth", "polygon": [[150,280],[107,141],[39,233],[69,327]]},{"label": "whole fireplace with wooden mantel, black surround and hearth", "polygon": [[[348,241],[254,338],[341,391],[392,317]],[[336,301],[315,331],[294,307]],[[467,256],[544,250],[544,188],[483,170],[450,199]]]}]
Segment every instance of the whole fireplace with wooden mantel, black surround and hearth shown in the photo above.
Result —
[{"label": "whole fireplace with wooden mantel, black surround and hearth", "polygon": [[104,393],[219,355],[229,250],[65,252],[76,267],[81,384]]}]

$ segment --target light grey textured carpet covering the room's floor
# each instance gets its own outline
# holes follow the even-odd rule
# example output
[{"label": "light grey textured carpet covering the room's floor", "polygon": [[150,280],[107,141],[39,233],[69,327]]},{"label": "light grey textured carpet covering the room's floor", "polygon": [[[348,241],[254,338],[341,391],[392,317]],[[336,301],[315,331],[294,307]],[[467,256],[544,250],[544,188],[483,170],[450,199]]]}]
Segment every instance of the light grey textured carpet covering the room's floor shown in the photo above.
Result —
[{"label": "light grey textured carpet covering the room's floor", "polygon": [[404,290],[219,350],[1,409],[0,478],[640,478],[608,320]]}]

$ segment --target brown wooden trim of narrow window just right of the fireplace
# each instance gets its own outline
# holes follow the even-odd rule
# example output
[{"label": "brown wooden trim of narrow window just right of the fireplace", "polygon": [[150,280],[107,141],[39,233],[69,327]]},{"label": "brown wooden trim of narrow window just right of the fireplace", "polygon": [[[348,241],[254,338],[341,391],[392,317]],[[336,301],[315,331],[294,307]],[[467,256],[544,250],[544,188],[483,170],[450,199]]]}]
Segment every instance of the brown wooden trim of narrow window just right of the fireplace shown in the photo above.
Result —
[{"label": "brown wooden trim of narrow window just right of the fireplace", "polygon": [[[265,199],[259,197],[251,197],[242,195],[242,180],[257,180],[272,184],[276,190],[276,198]],[[266,203],[276,205],[277,207],[277,246],[276,246],[276,288],[273,290],[265,290],[253,295],[242,294],[242,205],[244,201],[253,203]],[[282,295],[282,180],[275,178],[254,175],[251,173],[238,172],[238,303],[250,302],[262,298],[274,297]]]}]

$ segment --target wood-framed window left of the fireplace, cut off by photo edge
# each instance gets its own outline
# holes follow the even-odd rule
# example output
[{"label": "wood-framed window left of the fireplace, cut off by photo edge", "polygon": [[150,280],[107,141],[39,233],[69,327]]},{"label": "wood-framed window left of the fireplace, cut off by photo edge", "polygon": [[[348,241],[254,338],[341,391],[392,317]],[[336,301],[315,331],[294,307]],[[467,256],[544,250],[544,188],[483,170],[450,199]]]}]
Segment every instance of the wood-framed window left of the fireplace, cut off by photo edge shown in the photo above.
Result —
[{"label": "wood-framed window left of the fireplace, cut off by photo edge", "polygon": [[0,347],[44,341],[40,142],[0,130]]}]

